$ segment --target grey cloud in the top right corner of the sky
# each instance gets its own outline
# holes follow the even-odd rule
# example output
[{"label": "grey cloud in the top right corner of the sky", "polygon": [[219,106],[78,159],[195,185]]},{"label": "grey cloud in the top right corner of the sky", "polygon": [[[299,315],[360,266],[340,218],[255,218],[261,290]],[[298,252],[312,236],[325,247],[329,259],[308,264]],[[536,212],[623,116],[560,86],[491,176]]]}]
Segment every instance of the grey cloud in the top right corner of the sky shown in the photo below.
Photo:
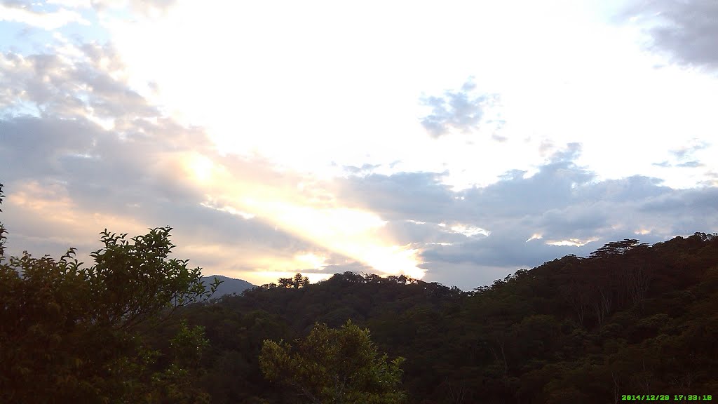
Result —
[{"label": "grey cloud in the top right corner of the sky", "polygon": [[718,2],[714,0],[633,1],[620,19],[647,24],[654,50],[686,65],[718,68]]}]

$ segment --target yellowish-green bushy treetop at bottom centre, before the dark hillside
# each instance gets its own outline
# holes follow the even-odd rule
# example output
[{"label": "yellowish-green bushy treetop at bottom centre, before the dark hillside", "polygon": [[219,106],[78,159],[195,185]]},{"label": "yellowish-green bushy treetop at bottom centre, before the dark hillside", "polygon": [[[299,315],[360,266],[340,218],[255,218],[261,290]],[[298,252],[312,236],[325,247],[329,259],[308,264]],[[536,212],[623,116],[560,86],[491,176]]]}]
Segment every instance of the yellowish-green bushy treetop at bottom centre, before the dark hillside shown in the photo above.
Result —
[{"label": "yellowish-green bushy treetop at bottom centre, before the dark hillside", "polygon": [[401,403],[400,365],[388,362],[369,339],[369,331],[347,321],[340,329],[314,324],[297,349],[284,341],[264,341],[259,365],[264,377],[287,385],[309,403]]}]

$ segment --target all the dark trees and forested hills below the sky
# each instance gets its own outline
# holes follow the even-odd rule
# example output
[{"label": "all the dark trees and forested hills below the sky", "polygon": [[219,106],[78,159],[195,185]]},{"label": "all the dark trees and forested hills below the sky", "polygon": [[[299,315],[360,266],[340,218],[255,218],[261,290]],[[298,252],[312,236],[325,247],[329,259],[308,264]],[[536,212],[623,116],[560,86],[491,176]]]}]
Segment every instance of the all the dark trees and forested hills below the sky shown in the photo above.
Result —
[{"label": "all the dark trees and forested hills below the sky", "polygon": [[[5,257],[4,234],[0,224],[1,402],[617,403],[718,392],[717,234],[610,242],[470,292],[345,272],[210,300],[217,285],[169,259],[169,228],[131,240],[104,231],[90,267],[73,249]],[[351,351],[365,366],[346,372],[337,352],[351,346],[365,347]]]}]

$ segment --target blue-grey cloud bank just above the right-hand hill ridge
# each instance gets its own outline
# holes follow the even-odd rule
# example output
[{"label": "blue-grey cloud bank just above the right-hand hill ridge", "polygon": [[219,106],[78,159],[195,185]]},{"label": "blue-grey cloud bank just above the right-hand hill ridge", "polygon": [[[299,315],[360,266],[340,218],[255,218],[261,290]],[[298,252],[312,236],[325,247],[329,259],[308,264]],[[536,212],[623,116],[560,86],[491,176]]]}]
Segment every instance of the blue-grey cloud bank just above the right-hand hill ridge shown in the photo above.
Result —
[{"label": "blue-grey cloud bank just above the right-hand hill ridge", "polygon": [[[677,190],[640,175],[597,180],[574,163],[579,153],[579,144],[569,144],[531,177],[513,170],[497,183],[459,193],[436,173],[350,178],[343,197],[381,214],[399,242],[421,248],[429,279],[454,280],[464,289],[566,254],[586,256],[615,240],[655,243],[718,231],[718,188]],[[451,230],[457,224],[490,235],[465,237]]]}]

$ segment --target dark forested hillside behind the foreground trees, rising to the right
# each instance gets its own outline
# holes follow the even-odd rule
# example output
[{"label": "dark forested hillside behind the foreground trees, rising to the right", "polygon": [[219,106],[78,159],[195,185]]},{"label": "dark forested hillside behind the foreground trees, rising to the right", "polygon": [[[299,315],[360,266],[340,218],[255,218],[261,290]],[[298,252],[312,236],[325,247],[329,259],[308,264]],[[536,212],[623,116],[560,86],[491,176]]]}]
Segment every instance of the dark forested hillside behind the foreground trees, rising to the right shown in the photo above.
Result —
[{"label": "dark forested hillside behind the foreground trees, rising to the right", "polygon": [[[347,319],[406,358],[411,403],[615,403],[718,391],[718,237],[612,242],[470,293],[352,272],[304,288],[264,285],[182,317],[212,346],[213,403],[291,403],[258,368],[265,339]],[[251,402],[251,401],[248,401]]]}]

